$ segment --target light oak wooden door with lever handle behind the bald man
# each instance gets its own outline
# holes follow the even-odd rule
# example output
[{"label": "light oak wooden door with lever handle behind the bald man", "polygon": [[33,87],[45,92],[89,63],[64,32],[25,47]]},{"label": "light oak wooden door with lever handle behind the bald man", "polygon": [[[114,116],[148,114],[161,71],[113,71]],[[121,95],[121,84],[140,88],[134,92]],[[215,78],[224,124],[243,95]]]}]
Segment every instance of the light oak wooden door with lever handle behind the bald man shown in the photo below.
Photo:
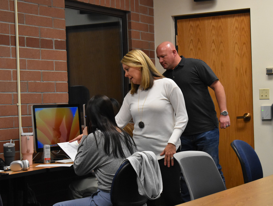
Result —
[{"label": "light oak wooden door with lever handle behind the bald man", "polygon": [[[227,188],[243,184],[230,143],[241,139],[254,148],[250,13],[178,19],[177,47],[179,55],[204,60],[224,86],[231,126],[220,129],[220,164]],[[219,117],[214,92],[209,90]],[[250,113],[250,121],[236,118],[245,113]]]}]

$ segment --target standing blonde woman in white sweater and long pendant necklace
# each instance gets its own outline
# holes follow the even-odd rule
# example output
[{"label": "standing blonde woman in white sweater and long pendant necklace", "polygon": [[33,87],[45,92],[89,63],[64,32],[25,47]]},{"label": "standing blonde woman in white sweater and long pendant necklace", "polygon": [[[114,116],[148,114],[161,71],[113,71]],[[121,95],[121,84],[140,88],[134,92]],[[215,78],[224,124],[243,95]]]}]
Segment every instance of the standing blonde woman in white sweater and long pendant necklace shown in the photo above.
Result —
[{"label": "standing blonde woman in white sweater and long pendant necklace", "polygon": [[121,63],[132,89],[124,98],[116,123],[123,128],[133,118],[137,151],[152,151],[159,161],[163,180],[160,204],[180,204],[180,167],[173,155],[179,151],[188,121],[183,94],[141,50],[128,52]]}]

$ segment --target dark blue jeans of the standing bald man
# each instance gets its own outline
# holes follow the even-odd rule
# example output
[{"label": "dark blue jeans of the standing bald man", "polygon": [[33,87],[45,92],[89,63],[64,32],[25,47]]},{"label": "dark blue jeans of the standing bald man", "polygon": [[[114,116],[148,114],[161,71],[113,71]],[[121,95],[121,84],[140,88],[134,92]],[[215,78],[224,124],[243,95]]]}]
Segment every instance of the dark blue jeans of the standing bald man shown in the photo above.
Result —
[{"label": "dark blue jeans of the standing bald man", "polygon": [[[194,135],[181,135],[181,149],[182,151],[203,151],[208,153],[212,159],[214,160],[219,173],[221,174],[221,177],[223,178],[223,181],[225,183],[225,178],[223,175],[222,167],[219,164],[219,129],[214,128],[213,130],[198,133]],[[187,188],[187,184],[185,182],[185,179],[181,173],[181,179],[180,179],[180,186],[181,186],[181,198],[183,202],[190,201],[190,193]]]}]

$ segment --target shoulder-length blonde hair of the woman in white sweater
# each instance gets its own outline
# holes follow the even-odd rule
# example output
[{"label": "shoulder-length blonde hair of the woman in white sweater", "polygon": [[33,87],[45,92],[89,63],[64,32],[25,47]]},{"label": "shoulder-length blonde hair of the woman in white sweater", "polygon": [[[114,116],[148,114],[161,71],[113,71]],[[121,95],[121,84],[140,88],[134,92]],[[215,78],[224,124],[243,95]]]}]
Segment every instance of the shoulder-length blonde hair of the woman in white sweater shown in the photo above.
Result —
[{"label": "shoulder-length blonde hair of the woman in white sweater", "polygon": [[143,90],[151,88],[153,86],[154,77],[164,77],[159,73],[150,58],[143,51],[138,49],[128,52],[121,60],[121,63],[128,67],[140,68],[141,83],[138,85],[131,82],[131,94],[136,93],[139,86]]}]

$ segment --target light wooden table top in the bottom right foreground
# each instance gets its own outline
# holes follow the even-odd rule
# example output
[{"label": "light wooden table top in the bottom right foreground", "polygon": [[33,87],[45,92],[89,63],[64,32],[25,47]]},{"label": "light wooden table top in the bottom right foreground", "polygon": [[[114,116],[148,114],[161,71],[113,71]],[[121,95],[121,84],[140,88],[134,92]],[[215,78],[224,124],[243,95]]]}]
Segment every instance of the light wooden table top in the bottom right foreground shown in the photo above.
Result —
[{"label": "light wooden table top in the bottom right foreground", "polygon": [[191,205],[273,205],[273,175],[177,206]]}]

